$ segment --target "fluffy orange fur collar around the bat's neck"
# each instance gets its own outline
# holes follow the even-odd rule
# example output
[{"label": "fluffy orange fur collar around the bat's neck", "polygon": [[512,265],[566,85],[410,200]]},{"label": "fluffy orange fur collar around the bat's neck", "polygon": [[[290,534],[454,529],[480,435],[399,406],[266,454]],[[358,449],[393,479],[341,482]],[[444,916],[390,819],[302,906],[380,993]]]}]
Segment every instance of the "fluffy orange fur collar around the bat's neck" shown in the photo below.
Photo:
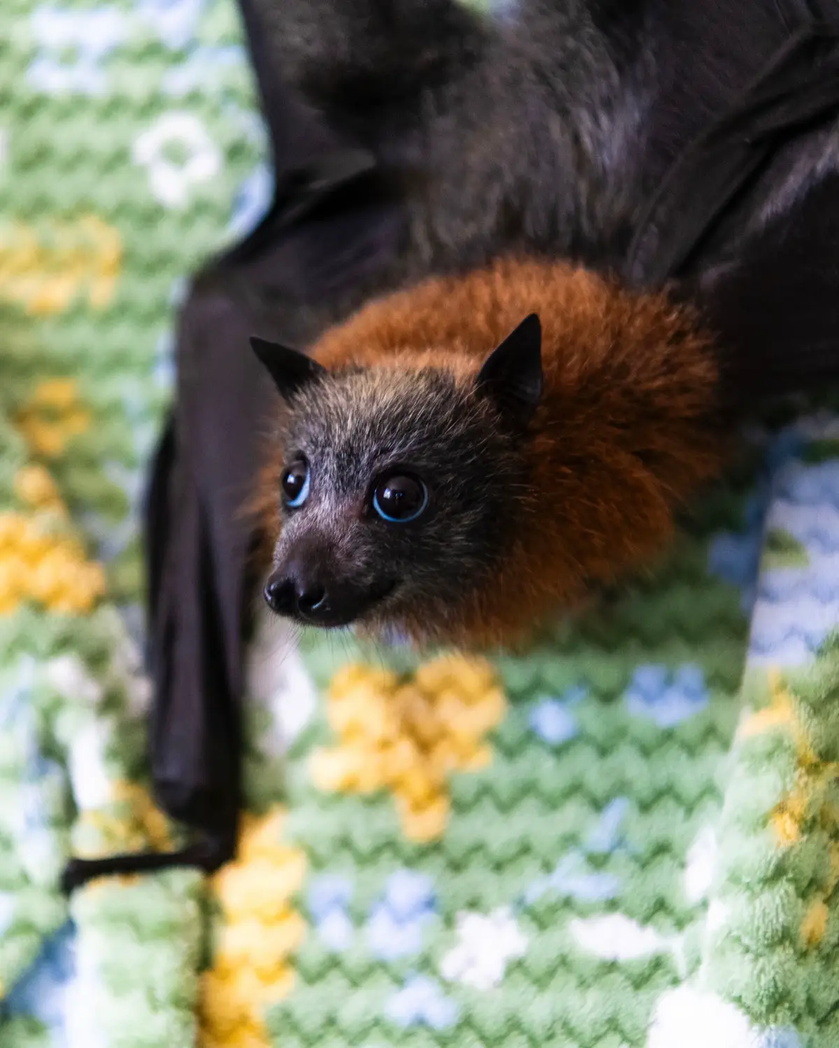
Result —
[{"label": "fluffy orange fur collar around the bat's neck", "polygon": [[[565,263],[503,260],[429,280],[370,303],[315,355],[330,369],[447,367],[466,381],[530,312],[541,320],[544,370],[531,494],[502,570],[446,624],[447,641],[514,641],[591,584],[644,564],[722,465],[717,367],[692,312]],[[409,626],[434,634],[432,624]]]}]

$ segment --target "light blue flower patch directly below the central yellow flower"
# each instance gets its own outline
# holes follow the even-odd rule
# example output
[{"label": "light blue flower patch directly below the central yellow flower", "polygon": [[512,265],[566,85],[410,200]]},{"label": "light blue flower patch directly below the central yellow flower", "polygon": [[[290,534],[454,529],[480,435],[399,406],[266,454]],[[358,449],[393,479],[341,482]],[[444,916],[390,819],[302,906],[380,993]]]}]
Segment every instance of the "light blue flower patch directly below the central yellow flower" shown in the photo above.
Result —
[{"label": "light blue flower patch directly below the central yellow flower", "polygon": [[399,870],[388,877],[383,899],[370,912],[370,949],[384,961],[418,954],[423,930],[435,909],[431,878],[412,870]]}]

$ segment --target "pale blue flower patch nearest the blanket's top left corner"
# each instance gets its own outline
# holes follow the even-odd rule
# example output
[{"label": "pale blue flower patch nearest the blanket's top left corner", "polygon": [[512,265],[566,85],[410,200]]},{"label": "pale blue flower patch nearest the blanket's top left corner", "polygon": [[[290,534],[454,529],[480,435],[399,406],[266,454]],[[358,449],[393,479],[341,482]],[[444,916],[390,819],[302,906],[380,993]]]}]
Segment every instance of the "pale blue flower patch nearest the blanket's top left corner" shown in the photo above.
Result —
[{"label": "pale blue flower patch nearest the blanket's top left corner", "polygon": [[38,54],[26,71],[45,94],[102,95],[108,86],[104,59],[125,38],[125,19],[115,7],[72,10],[45,5],[31,15]]}]

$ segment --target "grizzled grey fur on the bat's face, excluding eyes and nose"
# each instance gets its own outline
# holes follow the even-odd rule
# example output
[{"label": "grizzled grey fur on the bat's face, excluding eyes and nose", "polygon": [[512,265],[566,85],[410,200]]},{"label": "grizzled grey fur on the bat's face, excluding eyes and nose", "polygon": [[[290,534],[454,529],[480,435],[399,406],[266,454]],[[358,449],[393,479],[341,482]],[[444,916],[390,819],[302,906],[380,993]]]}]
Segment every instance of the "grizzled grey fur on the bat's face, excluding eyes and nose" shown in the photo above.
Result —
[{"label": "grizzled grey fur on the bat's face, excluding eyes and nose", "polygon": [[[392,584],[362,616],[368,625],[445,621],[509,548],[525,490],[521,441],[448,371],[330,373],[293,398],[279,436],[285,462],[308,461],[310,488],[282,511],[275,570],[304,558],[356,593]],[[386,523],[371,508],[375,479],[392,467],[429,488],[415,522]]]}]

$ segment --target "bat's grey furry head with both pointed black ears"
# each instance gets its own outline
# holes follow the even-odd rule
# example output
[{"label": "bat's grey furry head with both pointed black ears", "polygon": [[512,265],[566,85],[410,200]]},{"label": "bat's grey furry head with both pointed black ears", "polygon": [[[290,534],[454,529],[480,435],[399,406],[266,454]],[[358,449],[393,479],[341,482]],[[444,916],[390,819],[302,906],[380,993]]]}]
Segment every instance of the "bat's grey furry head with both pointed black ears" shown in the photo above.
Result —
[{"label": "bat's grey furry head with both pointed black ears", "polygon": [[270,607],[320,627],[449,635],[502,561],[526,501],[538,319],[469,373],[400,359],[327,371],[252,342],[286,408]]}]

